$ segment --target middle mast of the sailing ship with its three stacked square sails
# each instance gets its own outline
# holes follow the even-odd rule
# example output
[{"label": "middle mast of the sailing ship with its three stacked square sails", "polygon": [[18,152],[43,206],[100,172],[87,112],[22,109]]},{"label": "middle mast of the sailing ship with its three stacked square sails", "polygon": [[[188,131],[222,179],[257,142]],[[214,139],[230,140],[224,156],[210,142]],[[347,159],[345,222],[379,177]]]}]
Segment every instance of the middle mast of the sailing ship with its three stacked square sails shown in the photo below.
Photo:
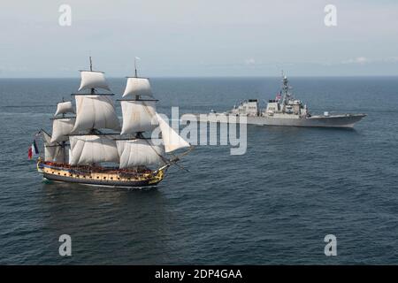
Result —
[{"label": "middle mast of the sailing ship with its three stacked square sails", "polygon": [[110,96],[112,93],[97,93],[96,89],[111,91],[103,72],[93,71],[92,58],[89,57],[89,71],[80,71],[81,90],[90,93],[76,93],[76,123],[71,143],[70,164],[99,164],[102,162],[119,163],[118,149],[112,135],[103,134],[102,129],[120,130],[120,123]]}]

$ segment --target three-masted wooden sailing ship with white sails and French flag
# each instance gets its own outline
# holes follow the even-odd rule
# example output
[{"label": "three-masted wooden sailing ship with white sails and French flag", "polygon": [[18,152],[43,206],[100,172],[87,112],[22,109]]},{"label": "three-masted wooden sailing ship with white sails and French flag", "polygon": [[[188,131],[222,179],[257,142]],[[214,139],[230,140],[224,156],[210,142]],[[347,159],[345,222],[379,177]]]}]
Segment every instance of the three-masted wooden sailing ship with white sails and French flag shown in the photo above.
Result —
[{"label": "three-masted wooden sailing ship with white sails and French flag", "polygon": [[[134,62],[135,63],[135,62]],[[80,88],[71,101],[57,103],[52,133],[39,133],[44,157],[37,170],[47,180],[111,187],[153,187],[190,144],[156,111],[149,80],[127,77],[116,114],[114,96],[103,72],[80,71]],[[75,115],[74,115],[75,114]],[[184,149],[180,156],[174,151]],[[178,166],[180,166],[178,164]],[[180,166],[180,168],[183,168]]]}]

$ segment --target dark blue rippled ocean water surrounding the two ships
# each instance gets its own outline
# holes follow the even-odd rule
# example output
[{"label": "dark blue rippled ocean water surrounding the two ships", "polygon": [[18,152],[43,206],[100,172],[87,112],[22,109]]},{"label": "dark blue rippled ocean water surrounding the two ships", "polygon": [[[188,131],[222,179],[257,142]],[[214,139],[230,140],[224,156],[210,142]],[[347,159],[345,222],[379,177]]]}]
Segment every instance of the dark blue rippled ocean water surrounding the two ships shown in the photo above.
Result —
[{"label": "dark blue rippled ocean water surrounding the two ships", "polygon": [[[198,146],[181,162],[190,172],[127,190],[46,183],[27,160],[78,79],[1,79],[0,264],[397,264],[398,79],[290,81],[312,112],[368,116],[353,130],[248,126],[245,155]],[[120,94],[125,80],[110,82]],[[279,90],[279,78],[151,83],[166,114]],[[72,256],[58,255],[64,233]],[[337,256],[324,254],[330,233]]]}]

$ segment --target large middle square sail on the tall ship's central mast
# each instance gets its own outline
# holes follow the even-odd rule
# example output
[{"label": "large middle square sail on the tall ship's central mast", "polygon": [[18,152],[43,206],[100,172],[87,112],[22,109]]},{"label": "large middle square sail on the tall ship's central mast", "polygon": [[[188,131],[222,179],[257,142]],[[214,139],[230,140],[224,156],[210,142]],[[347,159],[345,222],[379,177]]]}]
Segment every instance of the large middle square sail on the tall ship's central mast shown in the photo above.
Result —
[{"label": "large middle square sail on the tall ship's central mast", "polygon": [[109,96],[76,96],[73,133],[91,129],[120,130],[120,122]]}]

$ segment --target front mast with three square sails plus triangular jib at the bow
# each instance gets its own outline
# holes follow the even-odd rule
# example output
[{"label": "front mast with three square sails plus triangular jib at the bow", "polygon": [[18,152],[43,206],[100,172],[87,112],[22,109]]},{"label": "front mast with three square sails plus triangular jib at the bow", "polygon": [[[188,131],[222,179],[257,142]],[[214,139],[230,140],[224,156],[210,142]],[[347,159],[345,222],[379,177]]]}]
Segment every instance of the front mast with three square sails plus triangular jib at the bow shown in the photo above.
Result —
[{"label": "front mast with three square sails plus triangular jib at the bow", "polygon": [[[116,141],[120,168],[139,168],[158,163],[163,163],[164,168],[172,163],[164,157],[165,152],[190,145],[157,114],[157,100],[152,95],[149,80],[138,76],[136,61],[137,57],[134,58],[134,77],[127,77],[123,98],[119,100],[123,116],[120,134],[130,136]],[[152,132],[157,125],[162,132],[163,142],[160,144],[143,135]]]}]

